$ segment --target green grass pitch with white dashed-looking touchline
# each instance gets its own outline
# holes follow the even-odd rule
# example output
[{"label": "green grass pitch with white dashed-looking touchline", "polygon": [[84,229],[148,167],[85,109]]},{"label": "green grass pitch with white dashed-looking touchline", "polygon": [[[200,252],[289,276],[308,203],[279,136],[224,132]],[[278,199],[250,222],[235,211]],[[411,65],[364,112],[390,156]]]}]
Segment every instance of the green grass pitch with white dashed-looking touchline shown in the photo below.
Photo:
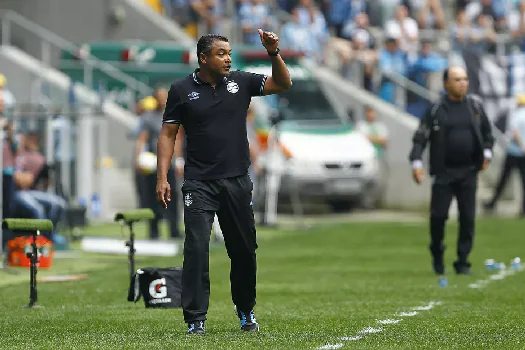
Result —
[{"label": "green grass pitch with white dashed-looking touchline", "polygon": [[[428,254],[427,224],[352,223],[307,231],[260,230],[257,319],[261,332],[238,329],[229,260],[211,250],[211,301],[205,336],[185,335],[182,312],[126,301],[125,256],[80,254],[44,274],[88,271],[82,281],[40,283],[42,309],[28,302],[23,276],[0,272],[0,348],[5,349],[440,349],[525,348],[525,273],[491,280],[483,262],[523,256],[524,222],[480,220],[472,276],[452,273],[456,226],[449,225],[449,286],[441,288]],[[114,226],[87,234],[120,235]],[[137,259],[137,267],[180,266],[182,257]],[[485,288],[469,285],[490,281]],[[419,310],[412,317],[399,312]],[[397,316],[396,316],[397,315]],[[378,325],[379,320],[400,320]],[[396,322],[396,321],[391,321]],[[356,339],[359,332],[368,329]],[[346,337],[346,338],[344,338]],[[342,340],[346,339],[346,340]]]}]

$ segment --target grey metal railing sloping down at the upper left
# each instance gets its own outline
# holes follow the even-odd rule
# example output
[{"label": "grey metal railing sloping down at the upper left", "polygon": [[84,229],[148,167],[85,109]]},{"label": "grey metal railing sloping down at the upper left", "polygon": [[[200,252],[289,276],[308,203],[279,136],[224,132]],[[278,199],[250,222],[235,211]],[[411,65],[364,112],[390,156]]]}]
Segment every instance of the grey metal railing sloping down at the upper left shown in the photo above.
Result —
[{"label": "grey metal railing sloping down at the upper left", "polygon": [[[13,27],[16,25],[33,34],[40,40],[40,59],[44,64],[52,66],[52,50],[58,49],[66,51],[72,55],[78,55],[80,47],[67,41],[66,39],[47,30],[39,24],[20,16],[13,11],[3,11],[0,14],[2,28],[2,45],[12,44]],[[91,54],[86,54],[81,58],[83,63],[83,84],[92,89],[94,86],[93,75],[96,70],[103,72],[108,77],[124,84],[128,89],[135,91],[139,95],[151,94],[153,89],[147,84],[123,73],[110,63],[99,60]],[[134,104],[130,104],[133,108]]]}]

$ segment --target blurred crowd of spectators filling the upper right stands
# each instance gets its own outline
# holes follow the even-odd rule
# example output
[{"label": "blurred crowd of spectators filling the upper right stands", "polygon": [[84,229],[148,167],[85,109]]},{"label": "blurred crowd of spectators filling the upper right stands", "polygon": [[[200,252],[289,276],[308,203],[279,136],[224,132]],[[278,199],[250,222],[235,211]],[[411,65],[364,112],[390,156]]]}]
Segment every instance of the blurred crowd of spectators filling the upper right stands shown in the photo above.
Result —
[{"label": "blurred crowd of spectators filling the upper right stands", "polygon": [[[430,90],[461,51],[494,51],[498,33],[525,50],[522,0],[144,0],[193,37],[197,25],[224,32],[232,19],[242,42],[258,45],[257,28],[278,31],[283,48],[305,52],[346,78],[420,116],[428,100],[397,86],[408,80]],[[229,13],[228,9],[231,8]],[[334,65],[334,59],[336,64]],[[332,64],[331,64],[332,63]],[[406,89],[406,86],[405,86]]]}]

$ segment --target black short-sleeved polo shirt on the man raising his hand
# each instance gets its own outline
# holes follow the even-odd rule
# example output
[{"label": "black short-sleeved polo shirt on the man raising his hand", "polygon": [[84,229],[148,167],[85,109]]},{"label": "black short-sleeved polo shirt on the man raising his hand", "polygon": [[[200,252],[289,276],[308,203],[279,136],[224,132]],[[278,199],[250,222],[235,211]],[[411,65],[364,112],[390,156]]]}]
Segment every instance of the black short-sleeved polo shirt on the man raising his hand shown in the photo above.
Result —
[{"label": "black short-sleeved polo shirt on the man raising his hand", "polygon": [[184,127],[184,178],[245,175],[250,166],[246,116],[251,98],[262,96],[267,76],[234,71],[213,88],[197,72],[171,85],[163,116],[163,123]]}]

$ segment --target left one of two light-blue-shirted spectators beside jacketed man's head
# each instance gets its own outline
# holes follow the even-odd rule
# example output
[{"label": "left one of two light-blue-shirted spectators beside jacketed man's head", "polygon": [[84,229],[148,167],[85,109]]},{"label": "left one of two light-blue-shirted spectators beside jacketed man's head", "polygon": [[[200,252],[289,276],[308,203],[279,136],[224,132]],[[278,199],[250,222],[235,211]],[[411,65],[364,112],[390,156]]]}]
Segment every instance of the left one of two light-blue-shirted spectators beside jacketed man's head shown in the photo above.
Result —
[{"label": "left one of two light-blue-shirted spectators beside jacketed man's head", "polygon": [[396,102],[396,84],[389,78],[389,74],[406,75],[407,54],[399,48],[398,40],[387,38],[385,48],[379,52],[379,68],[382,71],[379,96],[390,103]]}]

